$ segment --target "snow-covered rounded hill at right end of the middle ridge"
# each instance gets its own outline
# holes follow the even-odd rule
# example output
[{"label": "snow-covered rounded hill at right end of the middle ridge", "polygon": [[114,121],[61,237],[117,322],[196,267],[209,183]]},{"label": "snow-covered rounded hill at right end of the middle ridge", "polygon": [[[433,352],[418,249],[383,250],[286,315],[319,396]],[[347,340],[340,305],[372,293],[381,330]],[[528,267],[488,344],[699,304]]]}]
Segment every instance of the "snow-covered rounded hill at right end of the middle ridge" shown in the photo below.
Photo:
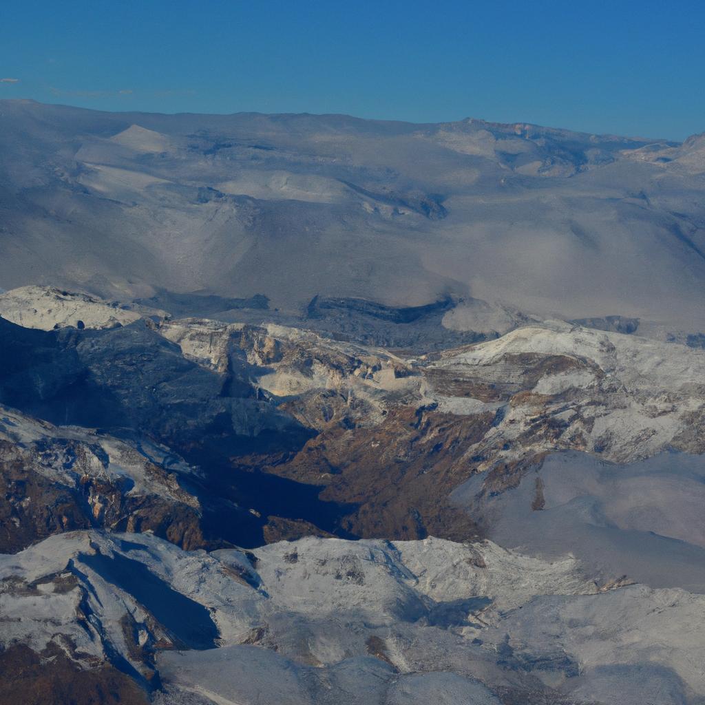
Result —
[{"label": "snow-covered rounded hill at right end of the middle ridge", "polygon": [[[547,321],[441,353],[427,370],[431,398],[450,378],[456,387],[465,381],[471,396],[474,386],[508,402],[485,439],[509,443],[507,460],[556,448],[620,462],[667,448],[703,450],[703,350]],[[442,402],[462,412],[451,398]]]}]

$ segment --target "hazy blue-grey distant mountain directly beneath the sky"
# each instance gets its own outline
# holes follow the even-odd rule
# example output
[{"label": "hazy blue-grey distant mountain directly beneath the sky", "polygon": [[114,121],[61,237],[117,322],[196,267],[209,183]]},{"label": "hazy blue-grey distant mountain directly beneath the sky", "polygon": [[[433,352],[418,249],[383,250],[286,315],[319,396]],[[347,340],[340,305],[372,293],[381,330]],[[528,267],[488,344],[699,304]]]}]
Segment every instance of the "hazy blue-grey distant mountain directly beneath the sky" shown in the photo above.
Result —
[{"label": "hazy blue-grey distant mountain directly beneath the sky", "polygon": [[[705,327],[703,140],[0,102],[0,287]],[[461,304],[446,324],[476,325]]]}]

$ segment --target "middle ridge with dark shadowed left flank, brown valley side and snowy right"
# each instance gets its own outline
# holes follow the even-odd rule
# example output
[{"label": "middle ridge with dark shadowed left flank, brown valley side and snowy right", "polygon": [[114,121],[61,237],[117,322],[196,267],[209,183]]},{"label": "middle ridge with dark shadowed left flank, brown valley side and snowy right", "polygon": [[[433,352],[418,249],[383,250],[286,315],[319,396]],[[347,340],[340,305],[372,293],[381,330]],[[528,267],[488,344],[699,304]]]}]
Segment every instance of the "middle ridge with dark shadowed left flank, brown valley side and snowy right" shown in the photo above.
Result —
[{"label": "middle ridge with dark shadowed left flank, brown valley side and snowy right", "polygon": [[[51,301],[32,300],[37,326],[61,311]],[[329,505],[338,519],[325,531],[462,540],[478,529],[450,495],[476,474],[483,496],[555,450],[615,462],[703,452],[705,353],[560,321],[419,357],[168,314],[109,331],[1,331],[14,358],[0,370],[6,403],[55,423],[140,429],[201,466],[206,485],[223,489],[229,473],[244,488],[264,483],[262,472],[311,485],[316,507],[280,518],[315,525]],[[236,504],[277,515],[271,497],[234,492]]]}]

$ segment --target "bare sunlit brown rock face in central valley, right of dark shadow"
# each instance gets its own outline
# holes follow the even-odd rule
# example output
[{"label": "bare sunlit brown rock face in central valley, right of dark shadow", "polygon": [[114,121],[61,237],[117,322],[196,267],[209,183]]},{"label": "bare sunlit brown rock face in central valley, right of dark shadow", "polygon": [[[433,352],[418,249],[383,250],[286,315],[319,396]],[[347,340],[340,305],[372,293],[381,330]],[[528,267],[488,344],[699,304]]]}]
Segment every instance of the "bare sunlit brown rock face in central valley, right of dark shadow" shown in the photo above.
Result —
[{"label": "bare sunlit brown rock face in central valley, right of dark shadow", "polygon": [[459,417],[400,407],[378,427],[324,431],[293,460],[268,470],[325,485],[321,499],[359,505],[343,519],[357,536],[473,539],[474,522],[447,498],[473,474],[467,450],[493,419],[492,413]]}]

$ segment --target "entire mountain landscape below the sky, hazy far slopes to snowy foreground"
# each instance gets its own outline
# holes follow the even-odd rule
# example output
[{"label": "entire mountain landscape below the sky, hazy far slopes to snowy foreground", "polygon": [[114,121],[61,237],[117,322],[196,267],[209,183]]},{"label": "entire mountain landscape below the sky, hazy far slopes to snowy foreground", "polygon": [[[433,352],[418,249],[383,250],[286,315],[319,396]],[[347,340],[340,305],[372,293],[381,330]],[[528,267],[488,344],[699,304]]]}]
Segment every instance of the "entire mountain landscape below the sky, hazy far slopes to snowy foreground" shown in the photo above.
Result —
[{"label": "entire mountain landscape below the sky, hazy far slopes to snowy foreground", "polygon": [[0,102],[0,704],[703,705],[704,155]]}]

